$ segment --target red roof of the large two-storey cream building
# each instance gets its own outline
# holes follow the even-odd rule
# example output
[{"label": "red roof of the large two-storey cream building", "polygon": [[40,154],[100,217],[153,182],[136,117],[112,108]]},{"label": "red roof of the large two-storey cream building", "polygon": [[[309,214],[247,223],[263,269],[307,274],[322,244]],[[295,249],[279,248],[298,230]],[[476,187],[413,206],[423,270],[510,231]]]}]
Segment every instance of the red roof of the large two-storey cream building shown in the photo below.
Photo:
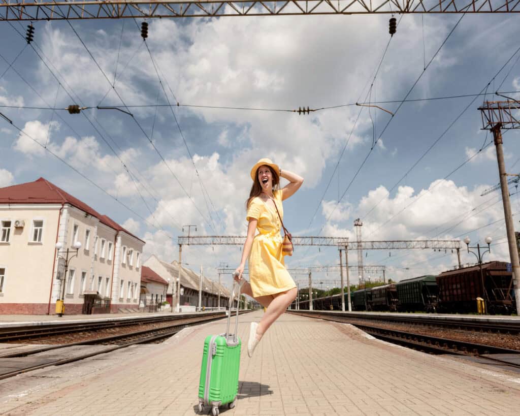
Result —
[{"label": "red roof of the large two-storey cream building", "polygon": [[[92,207],[77,198],[74,198],[70,193],[51,184],[47,179],[40,178],[34,182],[28,182],[20,185],[12,185],[6,188],[0,188],[0,204],[63,204],[68,203],[75,206],[87,214],[99,219],[99,222],[109,226],[116,231],[124,231],[128,235],[137,238],[131,232],[121,227],[113,219],[106,215],[101,215]],[[144,242],[144,241],[142,241]]]}]

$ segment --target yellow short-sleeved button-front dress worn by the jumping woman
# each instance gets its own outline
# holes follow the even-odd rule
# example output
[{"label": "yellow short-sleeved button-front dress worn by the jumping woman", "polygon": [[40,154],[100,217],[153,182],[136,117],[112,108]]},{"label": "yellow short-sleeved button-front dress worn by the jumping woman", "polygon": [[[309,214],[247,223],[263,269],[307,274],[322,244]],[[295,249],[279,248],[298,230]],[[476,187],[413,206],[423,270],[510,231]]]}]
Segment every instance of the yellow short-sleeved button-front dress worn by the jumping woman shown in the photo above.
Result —
[{"label": "yellow short-sleeved button-front dress worn by the jumping woman", "polygon": [[[274,199],[283,219],[281,190],[274,193]],[[281,222],[275,207],[256,197],[249,204],[246,219],[249,221],[250,218],[258,220],[258,234],[249,255],[249,277],[254,297],[274,295],[295,288],[296,284],[283,262]]]}]

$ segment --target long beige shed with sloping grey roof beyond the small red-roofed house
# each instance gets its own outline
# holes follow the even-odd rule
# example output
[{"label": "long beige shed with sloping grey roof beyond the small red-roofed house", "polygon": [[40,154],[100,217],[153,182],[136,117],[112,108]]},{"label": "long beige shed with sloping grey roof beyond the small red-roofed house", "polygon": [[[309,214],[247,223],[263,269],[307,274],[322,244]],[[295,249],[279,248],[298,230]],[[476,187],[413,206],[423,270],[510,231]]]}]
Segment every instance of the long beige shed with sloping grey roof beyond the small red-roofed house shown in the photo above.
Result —
[{"label": "long beige shed with sloping grey roof beyond the small red-roofed house", "polygon": [[[177,262],[166,263],[157,256],[152,255],[144,263],[160,277],[168,282],[166,291],[166,300],[172,302],[176,309],[176,282],[179,277],[179,264]],[[181,267],[180,274],[180,309],[183,306],[199,306],[199,287],[200,275],[186,267]],[[220,307],[227,307],[229,301],[229,290],[222,284],[218,284],[218,280],[211,280],[202,277],[201,306],[205,308],[218,307],[218,298],[220,295]]]}]

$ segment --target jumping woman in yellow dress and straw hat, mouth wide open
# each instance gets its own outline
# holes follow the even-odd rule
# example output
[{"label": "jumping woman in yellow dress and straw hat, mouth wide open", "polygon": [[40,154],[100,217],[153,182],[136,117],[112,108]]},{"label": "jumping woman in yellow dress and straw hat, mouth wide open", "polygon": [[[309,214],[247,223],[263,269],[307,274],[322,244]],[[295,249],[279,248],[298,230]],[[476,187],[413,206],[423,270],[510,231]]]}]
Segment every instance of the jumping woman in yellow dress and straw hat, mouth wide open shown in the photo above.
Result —
[{"label": "jumping woman in yellow dress and straw hat, mouth wide open", "polygon": [[[282,189],[280,177],[289,180],[289,184]],[[282,201],[303,184],[301,176],[282,171],[270,159],[260,159],[253,166],[251,179],[253,186],[246,203],[248,237],[245,239],[240,266],[235,271],[235,280],[240,284],[241,293],[254,297],[266,308],[266,312],[260,322],[251,322],[248,342],[250,357],[265,331],[296,298],[296,284],[283,263],[280,229]],[[255,236],[257,229],[259,233]],[[248,258],[251,282],[242,279]]]}]

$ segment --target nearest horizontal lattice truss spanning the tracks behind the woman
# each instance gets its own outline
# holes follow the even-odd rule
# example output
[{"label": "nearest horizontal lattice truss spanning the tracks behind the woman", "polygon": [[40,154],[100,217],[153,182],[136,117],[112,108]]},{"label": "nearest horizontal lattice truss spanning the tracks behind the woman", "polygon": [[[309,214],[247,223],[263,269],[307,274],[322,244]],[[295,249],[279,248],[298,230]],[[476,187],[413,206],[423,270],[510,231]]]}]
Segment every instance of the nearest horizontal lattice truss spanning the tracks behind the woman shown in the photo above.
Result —
[{"label": "nearest horizontal lattice truss spanning the tracks behind the woman", "polygon": [[[358,248],[357,241],[348,241],[346,237],[293,237],[292,241],[294,245],[336,246],[346,247],[348,250]],[[177,243],[179,245],[244,245],[245,236],[180,236]],[[460,249],[460,240],[381,240],[361,241],[361,244],[363,250]]]}]

